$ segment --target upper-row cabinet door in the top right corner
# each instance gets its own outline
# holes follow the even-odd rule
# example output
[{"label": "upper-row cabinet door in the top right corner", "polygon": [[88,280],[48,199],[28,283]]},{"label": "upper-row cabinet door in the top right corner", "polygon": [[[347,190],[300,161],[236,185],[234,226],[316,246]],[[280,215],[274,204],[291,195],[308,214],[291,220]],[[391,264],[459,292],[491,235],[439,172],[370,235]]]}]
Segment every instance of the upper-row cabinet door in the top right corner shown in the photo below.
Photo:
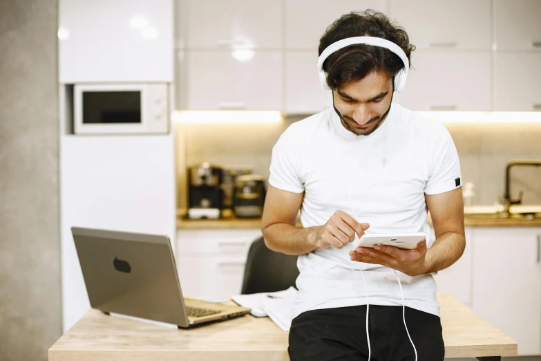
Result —
[{"label": "upper-row cabinet door in the top right corner", "polygon": [[541,48],[541,1],[494,0],[497,50]]}]

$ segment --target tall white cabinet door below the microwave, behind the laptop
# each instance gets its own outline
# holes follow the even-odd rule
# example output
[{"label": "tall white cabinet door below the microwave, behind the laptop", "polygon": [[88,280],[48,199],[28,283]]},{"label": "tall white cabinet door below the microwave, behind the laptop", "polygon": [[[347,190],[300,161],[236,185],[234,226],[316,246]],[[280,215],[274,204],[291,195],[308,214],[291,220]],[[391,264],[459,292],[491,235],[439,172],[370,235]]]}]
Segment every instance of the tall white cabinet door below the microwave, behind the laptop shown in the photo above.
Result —
[{"label": "tall white cabinet door below the microwave, behind the laptop", "polygon": [[174,249],[175,144],[172,133],[61,134],[59,140],[61,306],[67,331],[90,307],[71,227],[167,234]]}]

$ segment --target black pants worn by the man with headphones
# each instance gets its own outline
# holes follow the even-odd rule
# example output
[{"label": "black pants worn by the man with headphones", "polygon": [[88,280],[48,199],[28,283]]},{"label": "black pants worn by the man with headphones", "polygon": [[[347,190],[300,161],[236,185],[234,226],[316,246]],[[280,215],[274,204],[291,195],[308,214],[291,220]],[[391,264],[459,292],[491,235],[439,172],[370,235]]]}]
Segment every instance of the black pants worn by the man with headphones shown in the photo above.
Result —
[{"label": "black pants worn by the man with headphones", "polygon": [[[439,317],[406,307],[406,325],[419,361],[444,360]],[[372,361],[415,361],[402,306],[370,306],[368,332]],[[368,360],[366,306],[326,308],[301,313],[290,329],[292,361]]]}]

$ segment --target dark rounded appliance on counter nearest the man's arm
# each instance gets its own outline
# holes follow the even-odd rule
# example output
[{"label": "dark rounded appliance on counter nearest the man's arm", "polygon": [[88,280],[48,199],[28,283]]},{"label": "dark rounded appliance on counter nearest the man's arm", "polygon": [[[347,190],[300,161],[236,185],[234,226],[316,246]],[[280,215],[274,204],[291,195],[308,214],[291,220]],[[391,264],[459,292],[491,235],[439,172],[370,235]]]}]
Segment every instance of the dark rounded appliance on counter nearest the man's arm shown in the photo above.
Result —
[{"label": "dark rounded appliance on counter nearest the man's arm", "polygon": [[238,176],[235,183],[233,211],[238,218],[257,218],[263,215],[265,178],[257,174]]}]

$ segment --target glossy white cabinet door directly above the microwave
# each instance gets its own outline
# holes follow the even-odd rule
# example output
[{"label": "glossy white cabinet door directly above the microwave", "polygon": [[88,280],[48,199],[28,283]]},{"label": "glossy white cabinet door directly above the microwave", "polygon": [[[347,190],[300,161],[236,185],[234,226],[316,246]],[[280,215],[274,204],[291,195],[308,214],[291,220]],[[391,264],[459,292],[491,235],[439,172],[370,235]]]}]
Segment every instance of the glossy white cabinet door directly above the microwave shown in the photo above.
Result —
[{"label": "glossy white cabinet door directly above the microwave", "polygon": [[59,80],[173,82],[173,1],[59,1]]}]

